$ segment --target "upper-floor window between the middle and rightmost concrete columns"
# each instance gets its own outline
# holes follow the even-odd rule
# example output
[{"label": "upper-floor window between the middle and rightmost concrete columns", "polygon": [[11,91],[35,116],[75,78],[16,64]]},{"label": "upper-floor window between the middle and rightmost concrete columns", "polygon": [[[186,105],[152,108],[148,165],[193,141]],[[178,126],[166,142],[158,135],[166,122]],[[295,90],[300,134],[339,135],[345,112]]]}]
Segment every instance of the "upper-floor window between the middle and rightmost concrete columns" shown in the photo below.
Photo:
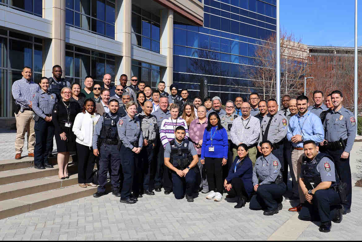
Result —
[{"label": "upper-floor window between the middle and rightmost concrete columns", "polygon": [[132,44],[160,53],[160,17],[132,5]]}]

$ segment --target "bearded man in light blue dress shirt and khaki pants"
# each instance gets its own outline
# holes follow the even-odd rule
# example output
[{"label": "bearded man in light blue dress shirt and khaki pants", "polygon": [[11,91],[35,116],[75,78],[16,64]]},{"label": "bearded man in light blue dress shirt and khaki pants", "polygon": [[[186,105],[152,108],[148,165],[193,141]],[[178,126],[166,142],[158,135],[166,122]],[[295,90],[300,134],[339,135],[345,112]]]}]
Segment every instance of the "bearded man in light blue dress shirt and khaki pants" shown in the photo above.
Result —
[{"label": "bearded man in light blue dress shirt and khaki pants", "polygon": [[298,114],[292,116],[289,120],[287,139],[292,142],[291,163],[295,175],[295,181],[299,190],[300,203],[290,212],[299,212],[305,201],[305,195],[299,186],[299,177],[301,172],[302,159],[304,156],[303,141],[313,140],[316,144],[324,140],[324,129],[319,116],[308,111],[308,97],[300,95],[296,99]]}]

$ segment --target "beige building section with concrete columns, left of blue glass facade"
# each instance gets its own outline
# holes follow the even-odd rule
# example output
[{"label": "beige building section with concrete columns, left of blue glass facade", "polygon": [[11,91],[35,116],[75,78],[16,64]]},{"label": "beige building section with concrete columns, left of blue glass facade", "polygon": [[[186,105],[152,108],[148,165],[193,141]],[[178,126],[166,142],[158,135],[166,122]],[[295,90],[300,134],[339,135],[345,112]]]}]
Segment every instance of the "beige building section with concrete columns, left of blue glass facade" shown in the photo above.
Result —
[{"label": "beige building section with concrete columns, left of blue glass facade", "polygon": [[83,85],[110,73],[138,76],[156,87],[173,78],[174,22],[203,26],[199,0],[2,0],[0,1],[0,119],[15,122],[11,86],[21,69],[34,81],[52,76]]}]

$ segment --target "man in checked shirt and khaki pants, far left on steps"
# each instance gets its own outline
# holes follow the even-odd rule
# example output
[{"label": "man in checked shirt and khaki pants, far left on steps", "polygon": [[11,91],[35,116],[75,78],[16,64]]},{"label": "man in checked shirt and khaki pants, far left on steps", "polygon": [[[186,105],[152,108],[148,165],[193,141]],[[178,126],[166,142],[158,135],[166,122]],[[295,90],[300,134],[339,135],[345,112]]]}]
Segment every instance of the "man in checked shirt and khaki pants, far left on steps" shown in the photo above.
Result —
[{"label": "man in checked shirt and khaki pants, far left on steps", "polygon": [[33,104],[31,100],[40,86],[31,80],[33,71],[30,67],[24,67],[21,72],[22,78],[13,83],[11,88],[13,98],[17,108],[15,110],[16,119],[16,139],[15,139],[15,159],[21,158],[22,148],[24,146],[25,132],[28,133],[28,156],[34,157],[34,119]]}]

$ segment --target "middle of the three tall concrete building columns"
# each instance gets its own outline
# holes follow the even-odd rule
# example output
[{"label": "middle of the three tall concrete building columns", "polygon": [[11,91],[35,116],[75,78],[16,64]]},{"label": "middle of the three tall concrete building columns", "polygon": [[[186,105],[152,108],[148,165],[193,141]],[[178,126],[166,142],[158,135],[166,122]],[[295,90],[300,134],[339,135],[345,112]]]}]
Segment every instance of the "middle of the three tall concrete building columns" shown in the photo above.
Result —
[{"label": "middle of the three tall concrete building columns", "polygon": [[131,79],[131,52],[132,52],[132,0],[116,0],[115,40],[123,43],[123,57],[119,63],[115,83],[119,84],[119,77],[126,74]]}]

